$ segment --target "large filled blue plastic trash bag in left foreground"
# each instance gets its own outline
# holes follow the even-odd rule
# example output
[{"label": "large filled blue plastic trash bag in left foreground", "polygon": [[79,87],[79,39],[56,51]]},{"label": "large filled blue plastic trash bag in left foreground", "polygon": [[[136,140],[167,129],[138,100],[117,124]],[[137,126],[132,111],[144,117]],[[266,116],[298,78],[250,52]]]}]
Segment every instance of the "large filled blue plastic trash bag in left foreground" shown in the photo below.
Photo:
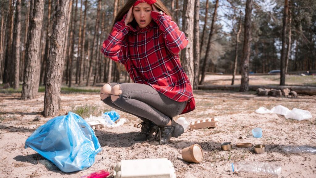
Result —
[{"label": "large filled blue plastic trash bag in left foreground", "polygon": [[47,121],[27,138],[25,148],[32,148],[63,172],[90,167],[101,151],[98,138],[89,124],[69,112]]}]

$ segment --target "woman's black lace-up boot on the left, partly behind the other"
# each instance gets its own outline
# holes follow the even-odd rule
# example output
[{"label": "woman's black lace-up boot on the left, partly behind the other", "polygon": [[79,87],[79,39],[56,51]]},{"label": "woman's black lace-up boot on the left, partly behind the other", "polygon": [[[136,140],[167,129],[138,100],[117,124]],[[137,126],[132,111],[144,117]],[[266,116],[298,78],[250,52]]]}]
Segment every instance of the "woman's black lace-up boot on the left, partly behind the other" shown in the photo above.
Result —
[{"label": "woman's black lace-up boot on the left, partly behind the other", "polygon": [[146,141],[151,139],[154,130],[152,129],[156,124],[150,120],[145,120],[137,125],[141,128],[141,132],[134,138],[135,141]]}]

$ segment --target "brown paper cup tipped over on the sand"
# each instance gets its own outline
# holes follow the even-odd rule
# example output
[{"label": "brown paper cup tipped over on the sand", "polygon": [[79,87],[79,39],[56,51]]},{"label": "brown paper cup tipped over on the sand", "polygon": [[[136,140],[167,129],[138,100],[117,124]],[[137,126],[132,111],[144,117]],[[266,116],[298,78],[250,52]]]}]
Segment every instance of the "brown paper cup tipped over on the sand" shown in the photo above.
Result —
[{"label": "brown paper cup tipped over on the sand", "polygon": [[186,162],[201,162],[203,160],[203,151],[201,146],[194,144],[182,149],[182,159]]}]

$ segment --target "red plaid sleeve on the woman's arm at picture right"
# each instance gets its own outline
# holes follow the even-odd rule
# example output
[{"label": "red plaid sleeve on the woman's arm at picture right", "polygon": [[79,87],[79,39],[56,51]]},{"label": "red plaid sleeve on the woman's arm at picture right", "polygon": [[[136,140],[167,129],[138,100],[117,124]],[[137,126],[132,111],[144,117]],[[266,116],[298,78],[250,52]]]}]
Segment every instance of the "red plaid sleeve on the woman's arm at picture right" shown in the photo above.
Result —
[{"label": "red plaid sleeve on the woman's arm at picture right", "polygon": [[158,24],[159,29],[163,31],[167,49],[173,54],[179,54],[188,44],[185,34],[179,30],[178,25],[166,13],[159,14],[151,11],[151,17]]}]

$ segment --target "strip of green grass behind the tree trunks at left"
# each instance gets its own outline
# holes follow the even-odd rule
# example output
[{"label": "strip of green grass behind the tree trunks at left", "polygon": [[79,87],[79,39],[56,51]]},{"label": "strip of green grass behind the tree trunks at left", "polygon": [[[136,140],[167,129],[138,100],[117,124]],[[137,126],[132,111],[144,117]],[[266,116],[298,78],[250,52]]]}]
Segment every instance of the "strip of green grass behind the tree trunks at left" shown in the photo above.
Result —
[{"label": "strip of green grass behind the tree trunks at left", "polygon": [[[1,84],[3,85],[3,84]],[[21,93],[22,85],[20,85],[19,89],[15,90],[13,88],[0,89],[0,93]],[[38,92],[45,92],[45,86],[39,86]],[[69,93],[99,93],[100,90],[96,89],[82,89],[82,88],[69,88],[69,87],[61,87],[61,93],[69,94]]]}]

